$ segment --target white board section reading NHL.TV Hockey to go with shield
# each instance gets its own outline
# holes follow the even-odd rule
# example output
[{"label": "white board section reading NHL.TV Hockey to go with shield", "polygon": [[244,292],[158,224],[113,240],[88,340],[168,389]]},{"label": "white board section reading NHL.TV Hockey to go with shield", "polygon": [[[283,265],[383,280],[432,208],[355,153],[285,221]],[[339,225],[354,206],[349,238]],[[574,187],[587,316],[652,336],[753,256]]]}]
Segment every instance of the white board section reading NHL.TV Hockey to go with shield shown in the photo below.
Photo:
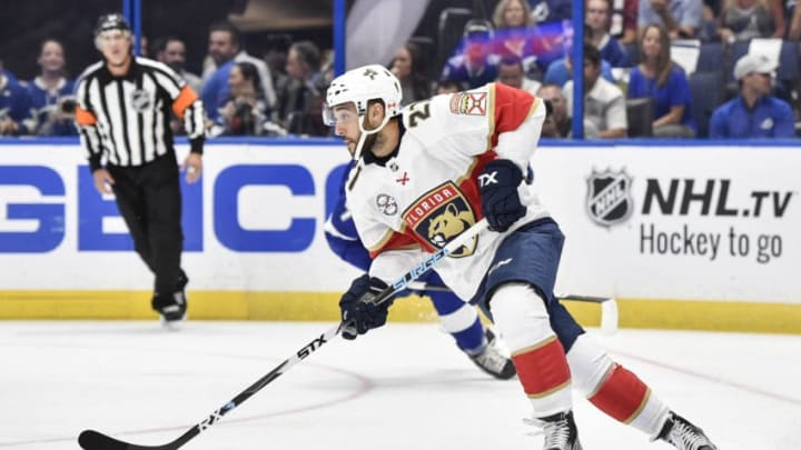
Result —
[{"label": "white board section reading NHL.TV Hockey to go with shield", "polygon": [[801,148],[541,149],[561,289],[801,302],[799,167]]}]

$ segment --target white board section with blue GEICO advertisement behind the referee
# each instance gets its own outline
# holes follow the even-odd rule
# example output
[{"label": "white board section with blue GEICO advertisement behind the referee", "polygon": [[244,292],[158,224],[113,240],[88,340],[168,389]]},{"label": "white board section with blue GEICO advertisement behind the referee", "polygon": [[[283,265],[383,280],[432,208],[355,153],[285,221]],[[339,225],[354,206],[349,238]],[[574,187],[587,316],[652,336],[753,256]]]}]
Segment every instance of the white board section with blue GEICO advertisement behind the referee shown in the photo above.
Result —
[{"label": "white board section with blue GEICO advertisement behind the referee", "polygon": [[[323,234],[347,160],[340,144],[207,144],[201,181],[181,187],[192,289],[347,288],[356,272]],[[148,289],[132,248],[77,146],[0,147],[0,289]]]}]

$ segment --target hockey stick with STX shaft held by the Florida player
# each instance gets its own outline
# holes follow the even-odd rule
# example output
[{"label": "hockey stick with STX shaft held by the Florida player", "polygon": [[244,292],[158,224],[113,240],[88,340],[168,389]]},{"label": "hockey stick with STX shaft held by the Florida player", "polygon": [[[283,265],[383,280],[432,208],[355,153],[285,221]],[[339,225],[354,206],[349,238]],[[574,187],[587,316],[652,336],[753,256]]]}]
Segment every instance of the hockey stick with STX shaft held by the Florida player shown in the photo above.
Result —
[{"label": "hockey stick with STX shaft held by the Florida player", "polygon": [[[447,257],[448,254],[453,253],[454,251],[461,249],[464,244],[467,243],[468,240],[473,239],[474,237],[478,236],[479,232],[482,232],[485,228],[487,228],[487,221],[486,219],[479,220],[476,222],[473,227],[468,228],[462,234],[457,236],[455,239],[453,239],[451,242],[448,242],[445,247],[434,252],[431,257],[428,257],[426,260],[421,262],[419,264],[415,266],[412,270],[406,272],[403,277],[400,277],[397,281],[395,281],[392,286],[384,289],[373,301],[376,304],[380,304],[384,301],[386,301],[388,298],[390,298],[393,294],[406,289],[406,286],[414,281],[417,277],[422,276],[423,273],[431,270],[431,268],[434,267],[434,264],[437,263],[441,259]],[[233,411],[235,408],[239,407],[241,403],[245,402],[245,400],[249,399],[253,394],[260,391],[265,386],[273,382],[276,378],[283,376],[286,373],[289,369],[291,369],[295,364],[303,361],[306,357],[318,350],[320,347],[323,347],[324,343],[328,342],[329,340],[336,338],[339,332],[343,330],[343,328],[346,326],[346,323],[339,323],[338,326],[332,328],[330,330],[324,332],[319,336],[319,338],[315,338],[312,340],[312,342],[307,343],[300,350],[298,350],[295,354],[289,357],[287,360],[281,362],[278,367],[273,369],[269,373],[261,377],[258,381],[250,384],[247,389],[239,392],[236,397],[234,397],[230,401],[225,403],[221,408],[212,412],[208,418],[204,419],[200,423],[197,423],[189,430],[187,430],[184,434],[181,434],[178,439],[174,440],[172,442],[166,443],[164,446],[137,446],[135,443],[128,443],[120,440],[117,440],[115,438],[111,438],[107,434],[103,434],[99,431],[95,430],[85,430],[80,433],[78,437],[78,443],[85,450],[174,450],[182,447],[185,443],[187,443],[189,440],[195,438],[196,436],[200,434],[201,432],[206,431],[211,427],[212,424],[219,422],[224,416]]]}]

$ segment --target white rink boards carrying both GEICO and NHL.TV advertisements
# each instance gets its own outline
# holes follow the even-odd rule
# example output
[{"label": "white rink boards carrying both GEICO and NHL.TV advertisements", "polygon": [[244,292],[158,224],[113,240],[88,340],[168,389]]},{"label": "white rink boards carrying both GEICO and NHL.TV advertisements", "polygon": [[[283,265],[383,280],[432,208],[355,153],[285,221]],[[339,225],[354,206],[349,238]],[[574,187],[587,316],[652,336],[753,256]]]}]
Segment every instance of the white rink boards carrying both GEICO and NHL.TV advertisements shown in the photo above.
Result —
[{"label": "white rink boards carrying both GEICO and NHL.TV advertisements", "polygon": [[[347,159],[208,144],[201,182],[182,187],[192,289],[346,289],[357,272],[323,226]],[[532,167],[566,236],[560,291],[801,301],[801,148],[545,147]],[[149,289],[131,249],[77,146],[0,147],[0,289]]]}]

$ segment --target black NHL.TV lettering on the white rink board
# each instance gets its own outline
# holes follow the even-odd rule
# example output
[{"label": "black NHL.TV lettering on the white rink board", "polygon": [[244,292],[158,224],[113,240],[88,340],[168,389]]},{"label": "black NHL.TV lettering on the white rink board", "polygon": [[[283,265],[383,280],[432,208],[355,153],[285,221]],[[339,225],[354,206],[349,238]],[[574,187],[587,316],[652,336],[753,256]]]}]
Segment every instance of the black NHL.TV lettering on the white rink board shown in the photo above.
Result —
[{"label": "black NHL.TV lettering on the white rink board", "polygon": [[[646,180],[643,214],[688,216],[692,211],[701,216],[722,217],[774,217],[781,218],[790,206],[792,191],[731,189],[728,179],[670,179]],[[736,192],[736,197],[732,194]],[[732,197],[730,199],[730,197]]]}]

